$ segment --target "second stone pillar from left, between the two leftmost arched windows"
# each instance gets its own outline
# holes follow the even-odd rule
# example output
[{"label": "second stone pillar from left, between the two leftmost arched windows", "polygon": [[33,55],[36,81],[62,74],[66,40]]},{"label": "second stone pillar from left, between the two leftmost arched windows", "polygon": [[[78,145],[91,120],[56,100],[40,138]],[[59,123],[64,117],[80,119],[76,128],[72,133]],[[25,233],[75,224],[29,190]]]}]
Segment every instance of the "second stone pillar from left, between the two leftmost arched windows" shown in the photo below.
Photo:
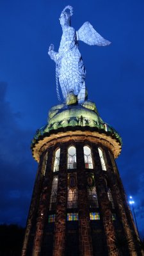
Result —
[{"label": "second stone pillar from left, between the two leftmost arched windows", "polygon": [[33,245],[33,256],[39,256],[42,238],[44,234],[44,225],[47,220],[47,212],[49,211],[49,202],[51,198],[51,188],[52,188],[52,170],[51,163],[53,157],[53,148],[49,148],[47,157],[47,167],[45,169],[44,182],[42,184],[42,190],[40,195],[40,204],[38,207],[38,217],[36,220],[36,233],[35,241]]}]

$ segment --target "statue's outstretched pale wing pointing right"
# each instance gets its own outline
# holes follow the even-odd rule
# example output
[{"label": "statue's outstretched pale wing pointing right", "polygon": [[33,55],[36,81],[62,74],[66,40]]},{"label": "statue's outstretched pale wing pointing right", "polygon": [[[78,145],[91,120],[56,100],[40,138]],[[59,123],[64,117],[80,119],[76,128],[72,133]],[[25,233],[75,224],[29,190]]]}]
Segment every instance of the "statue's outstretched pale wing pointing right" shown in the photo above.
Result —
[{"label": "statue's outstretched pale wing pointing right", "polygon": [[84,22],[83,26],[76,31],[77,40],[81,40],[88,45],[106,46],[111,44],[108,40],[95,31],[90,22]]}]

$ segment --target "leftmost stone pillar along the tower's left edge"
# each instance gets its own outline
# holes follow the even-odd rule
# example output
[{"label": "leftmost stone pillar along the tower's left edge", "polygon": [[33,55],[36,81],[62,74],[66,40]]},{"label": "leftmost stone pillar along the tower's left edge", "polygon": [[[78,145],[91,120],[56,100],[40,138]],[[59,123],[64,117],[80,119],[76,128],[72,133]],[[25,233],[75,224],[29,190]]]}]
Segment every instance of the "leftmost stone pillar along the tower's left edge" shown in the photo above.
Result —
[{"label": "leftmost stone pillar along the tower's left edge", "polygon": [[33,189],[33,195],[31,198],[31,205],[30,205],[29,214],[28,214],[28,221],[27,221],[27,225],[26,225],[26,234],[24,237],[24,243],[23,243],[23,247],[22,247],[22,256],[25,256],[26,252],[27,252],[29,235],[31,232],[31,226],[32,226],[33,218],[35,218],[35,214],[38,209],[38,202],[40,200],[42,181],[44,179],[44,175],[42,172],[42,167],[44,164],[44,156],[45,156],[45,153],[43,154],[43,156],[40,159],[40,163],[38,166],[38,172],[36,174],[35,186]]}]

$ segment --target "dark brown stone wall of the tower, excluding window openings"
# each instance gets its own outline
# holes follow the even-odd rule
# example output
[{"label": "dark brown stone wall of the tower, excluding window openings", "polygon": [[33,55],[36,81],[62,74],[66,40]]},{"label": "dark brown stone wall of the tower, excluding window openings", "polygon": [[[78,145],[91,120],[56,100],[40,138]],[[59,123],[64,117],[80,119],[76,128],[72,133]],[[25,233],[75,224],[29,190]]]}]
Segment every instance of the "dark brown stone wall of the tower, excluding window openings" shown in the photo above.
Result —
[{"label": "dark brown stone wall of the tower, excluding window openings", "polygon": [[[127,254],[122,255],[143,255],[138,249],[138,246],[136,246],[138,240],[134,237],[138,237],[138,234],[136,234],[134,223],[131,218],[131,212],[129,212],[129,208],[126,204],[125,192],[122,187],[118,170],[113,167],[114,163],[111,162],[109,157],[109,148],[106,147],[106,143],[102,145],[99,138],[98,141],[95,142],[96,138],[92,138],[91,135],[90,139],[91,140],[88,140],[83,134],[79,137],[73,137],[72,134],[70,134],[65,140],[63,140],[63,138],[57,138],[57,140],[53,141],[53,144],[51,141],[49,145],[45,145],[45,152],[40,158],[31,206],[29,209],[22,256],[76,256],[72,254],[72,247],[70,248],[70,252],[68,252],[68,248],[67,250],[65,248],[66,244],[69,244],[70,246],[70,243],[68,243],[70,232],[76,234],[77,239],[79,239],[77,243],[77,246],[79,244],[79,250],[76,249],[77,252],[79,252],[79,256],[117,256],[119,255],[118,253],[122,254],[122,250],[116,245],[118,232],[124,234],[127,239],[127,243],[124,245]],[[67,170],[67,150],[70,145],[76,147],[76,170]],[[85,168],[84,145],[87,145],[92,150],[92,169]],[[57,173],[53,173],[54,152],[58,147],[60,148],[60,167]],[[98,147],[102,148],[106,154],[106,171],[102,170]],[[47,164],[45,168],[45,156],[47,152]],[[68,173],[70,172],[77,173],[77,209],[74,209],[74,211],[78,212],[79,220],[77,221],[77,225],[79,228],[75,228],[74,230],[68,230],[70,225],[67,225],[67,180]],[[95,179],[99,209],[95,208],[93,211],[99,211],[100,221],[90,220],[90,211],[92,211],[92,209],[90,209],[88,203],[88,173],[92,173]],[[56,197],[56,210],[52,212],[49,211],[49,204],[54,175],[58,175],[58,191]],[[109,202],[108,187],[111,189],[115,209],[112,209]],[[115,220],[113,220],[114,213],[122,224],[119,227],[119,230],[115,228]],[[56,219],[53,223],[54,234],[53,232],[49,232],[49,236],[47,236],[45,227],[49,225],[49,214],[56,214]],[[36,228],[33,228],[34,226]],[[33,244],[30,244],[32,230],[35,230],[33,231],[35,232],[35,237]],[[47,241],[45,236],[47,236],[47,239],[49,239],[51,243],[54,241],[53,244],[47,243],[51,245],[51,254],[48,254],[48,252],[51,251],[49,250],[50,245],[46,246],[45,250],[42,250],[44,241]],[[100,239],[102,239],[103,244],[100,243]],[[28,246],[31,246],[31,250],[28,250]],[[102,248],[100,248],[100,246]],[[99,248],[99,250],[97,250],[97,248]],[[32,251],[32,254],[28,253]],[[102,254],[100,254],[100,252]]]}]

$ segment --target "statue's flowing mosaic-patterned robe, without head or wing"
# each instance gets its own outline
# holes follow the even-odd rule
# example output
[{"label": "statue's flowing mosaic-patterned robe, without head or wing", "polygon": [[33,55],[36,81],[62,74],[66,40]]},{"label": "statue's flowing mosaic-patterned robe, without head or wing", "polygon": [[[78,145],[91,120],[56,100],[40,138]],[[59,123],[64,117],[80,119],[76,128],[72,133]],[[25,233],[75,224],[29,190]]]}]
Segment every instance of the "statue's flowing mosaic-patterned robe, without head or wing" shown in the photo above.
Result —
[{"label": "statue's flowing mosaic-patterned robe, without head or wing", "polygon": [[66,100],[67,94],[73,92],[78,95],[86,75],[81,54],[78,50],[76,31],[70,26],[63,28],[60,48],[56,57],[56,69]]}]

